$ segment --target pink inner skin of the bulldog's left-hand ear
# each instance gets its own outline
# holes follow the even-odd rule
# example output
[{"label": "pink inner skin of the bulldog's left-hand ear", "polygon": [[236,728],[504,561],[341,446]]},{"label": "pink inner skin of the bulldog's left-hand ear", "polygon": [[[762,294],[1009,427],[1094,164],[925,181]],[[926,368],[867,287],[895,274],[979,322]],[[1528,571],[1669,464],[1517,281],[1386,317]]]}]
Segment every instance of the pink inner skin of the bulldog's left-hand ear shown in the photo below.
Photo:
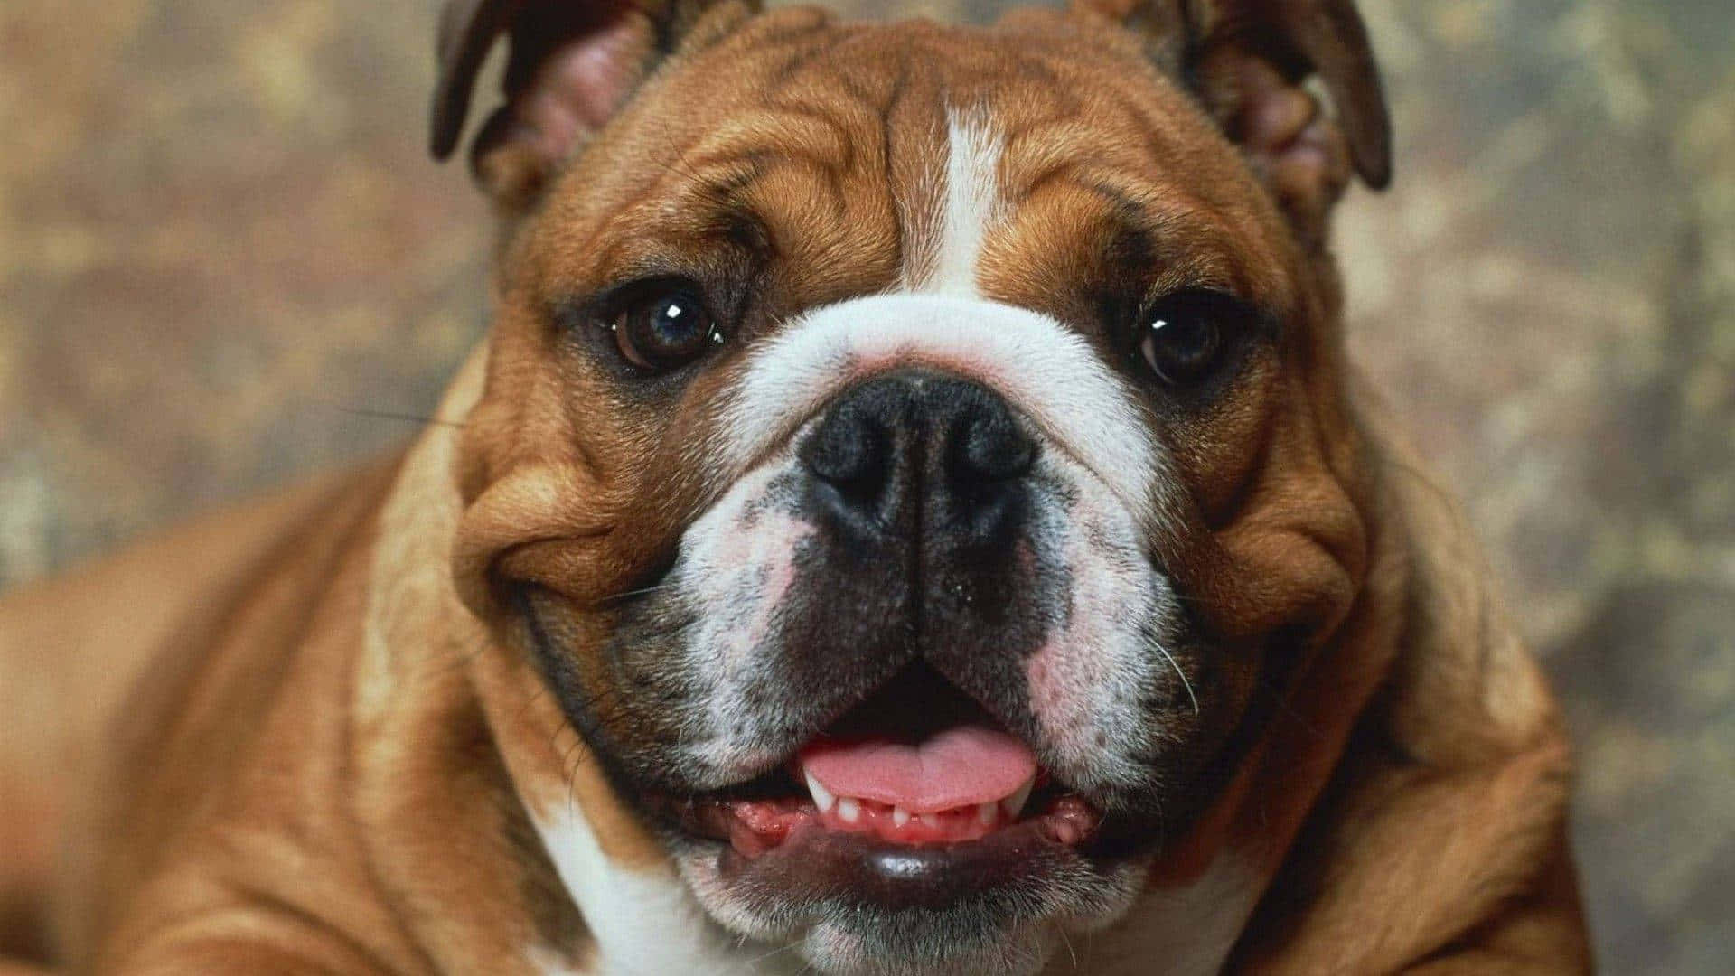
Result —
[{"label": "pink inner skin of the bulldog's left-hand ear", "polygon": [[626,101],[645,61],[637,16],[562,45],[543,63],[517,115],[538,132],[540,149],[564,158],[585,132],[600,129]]}]

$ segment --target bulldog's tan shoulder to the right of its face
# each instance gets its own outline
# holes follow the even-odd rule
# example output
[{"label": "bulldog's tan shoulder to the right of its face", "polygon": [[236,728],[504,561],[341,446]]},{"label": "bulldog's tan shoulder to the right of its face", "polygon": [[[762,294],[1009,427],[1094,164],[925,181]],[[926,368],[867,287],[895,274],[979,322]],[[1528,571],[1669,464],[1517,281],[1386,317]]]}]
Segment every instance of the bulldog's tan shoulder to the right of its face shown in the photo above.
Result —
[{"label": "bulldog's tan shoulder to the right of its face", "polygon": [[1402,590],[1391,663],[1235,960],[1388,971],[1438,946],[1589,971],[1560,709],[1457,504],[1391,408],[1353,389],[1385,526],[1369,587]]}]

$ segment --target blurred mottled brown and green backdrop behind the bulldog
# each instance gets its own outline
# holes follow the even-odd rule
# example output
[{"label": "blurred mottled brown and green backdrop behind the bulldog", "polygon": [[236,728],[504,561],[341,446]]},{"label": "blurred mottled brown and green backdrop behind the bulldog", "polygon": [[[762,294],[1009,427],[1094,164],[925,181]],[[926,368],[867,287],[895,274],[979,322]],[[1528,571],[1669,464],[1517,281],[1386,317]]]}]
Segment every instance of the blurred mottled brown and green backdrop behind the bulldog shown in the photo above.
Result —
[{"label": "blurred mottled brown and green backdrop behind the bulldog", "polygon": [[[1565,700],[1605,971],[1728,973],[1735,7],[1362,7],[1398,167],[1338,226],[1353,346]],[[416,432],[489,241],[423,155],[434,10],[0,5],[0,587]]]}]

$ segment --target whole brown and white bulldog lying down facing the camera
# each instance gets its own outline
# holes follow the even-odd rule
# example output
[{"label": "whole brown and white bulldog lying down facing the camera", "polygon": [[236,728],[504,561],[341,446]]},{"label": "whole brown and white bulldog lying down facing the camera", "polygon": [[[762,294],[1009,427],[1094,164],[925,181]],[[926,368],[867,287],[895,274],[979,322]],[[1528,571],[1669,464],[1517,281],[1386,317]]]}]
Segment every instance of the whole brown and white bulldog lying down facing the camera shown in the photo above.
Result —
[{"label": "whole brown and white bulldog lying down facing the camera", "polygon": [[66,971],[1589,967],[1556,709],[1345,353],[1350,0],[458,0],[437,156],[501,38],[439,422],[5,606]]}]

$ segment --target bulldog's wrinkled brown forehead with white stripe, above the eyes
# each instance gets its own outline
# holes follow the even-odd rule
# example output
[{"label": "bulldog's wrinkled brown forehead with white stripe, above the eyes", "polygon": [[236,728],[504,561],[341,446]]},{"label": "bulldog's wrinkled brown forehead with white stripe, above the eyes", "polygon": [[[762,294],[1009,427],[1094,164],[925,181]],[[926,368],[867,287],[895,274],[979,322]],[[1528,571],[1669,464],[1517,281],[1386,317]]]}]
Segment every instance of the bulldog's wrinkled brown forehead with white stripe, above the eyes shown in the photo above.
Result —
[{"label": "bulldog's wrinkled brown forehead with white stripe, above the eyes", "polygon": [[770,255],[788,311],[902,290],[1084,321],[1182,287],[1291,307],[1234,148],[1103,36],[782,14],[673,63],[585,151],[531,236],[545,283]]}]

